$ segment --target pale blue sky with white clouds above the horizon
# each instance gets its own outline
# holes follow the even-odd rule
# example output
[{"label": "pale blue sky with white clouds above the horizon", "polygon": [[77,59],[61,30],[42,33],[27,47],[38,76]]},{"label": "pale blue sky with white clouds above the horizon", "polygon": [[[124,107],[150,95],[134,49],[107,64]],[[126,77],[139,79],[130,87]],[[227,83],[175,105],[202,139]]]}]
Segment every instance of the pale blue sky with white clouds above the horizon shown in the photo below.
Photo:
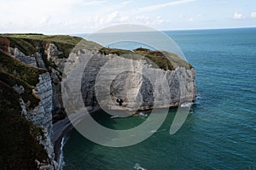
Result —
[{"label": "pale blue sky with white clouds above the horizon", "polygon": [[119,24],[160,31],[256,27],[255,0],[0,0],[0,4],[0,33],[91,33]]}]

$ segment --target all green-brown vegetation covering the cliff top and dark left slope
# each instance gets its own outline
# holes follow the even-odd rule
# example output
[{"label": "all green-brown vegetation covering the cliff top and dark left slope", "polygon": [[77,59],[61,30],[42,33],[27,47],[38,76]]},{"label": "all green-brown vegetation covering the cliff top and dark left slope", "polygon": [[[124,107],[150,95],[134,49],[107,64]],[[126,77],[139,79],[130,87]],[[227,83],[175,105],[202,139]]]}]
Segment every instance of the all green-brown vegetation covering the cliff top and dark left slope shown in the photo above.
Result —
[{"label": "all green-brown vegetation covering the cliff top and dark left slope", "polygon": [[[49,158],[44,146],[39,144],[38,136],[42,129],[21,115],[20,98],[26,103],[26,109],[35,108],[40,99],[32,94],[37,90],[39,75],[59,71],[55,61],[48,59],[47,49],[54,43],[60,54],[58,59],[67,59],[74,47],[96,50],[101,54],[117,54],[131,59],[145,59],[155,68],[175,70],[177,66],[192,68],[189,63],[176,54],[153,51],[145,48],[134,50],[103,48],[96,42],[80,37],[45,36],[43,34],[0,34],[0,169],[37,169],[35,160],[47,163]],[[35,57],[39,53],[46,69],[26,65],[9,54],[10,48],[18,48],[26,56]],[[74,50],[73,52],[76,53]],[[61,75],[61,71],[60,71]],[[60,80],[61,81],[61,80]],[[24,91],[17,93],[13,87],[22,86]],[[64,111],[63,111],[64,112]],[[64,115],[53,116],[56,122]]]}]

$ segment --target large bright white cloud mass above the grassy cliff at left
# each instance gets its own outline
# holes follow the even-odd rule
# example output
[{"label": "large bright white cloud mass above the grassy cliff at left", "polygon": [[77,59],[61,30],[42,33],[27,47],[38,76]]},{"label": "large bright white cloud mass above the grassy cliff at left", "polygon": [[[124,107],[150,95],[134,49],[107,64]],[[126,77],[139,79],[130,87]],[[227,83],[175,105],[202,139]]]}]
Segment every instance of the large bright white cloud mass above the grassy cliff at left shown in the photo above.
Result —
[{"label": "large bright white cloud mass above the grassy cliff at left", "polygon": [[81,0],[1,1],[0,25],[4,27],[0,31],[61,32],[69,21],[76,20],[71,11],[77,3]]}]

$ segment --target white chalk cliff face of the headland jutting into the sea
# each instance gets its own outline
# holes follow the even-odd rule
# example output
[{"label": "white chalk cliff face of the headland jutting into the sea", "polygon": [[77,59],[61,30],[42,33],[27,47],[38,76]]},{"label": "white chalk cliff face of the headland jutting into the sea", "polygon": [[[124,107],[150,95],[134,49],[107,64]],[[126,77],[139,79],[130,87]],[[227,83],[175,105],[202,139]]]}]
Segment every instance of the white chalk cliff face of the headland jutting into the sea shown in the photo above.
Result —
[{"label": "white chalk cliff face of the headland jutting into the sea", "polygon": [[[178,106],[195,99],[193,68],[164,71],[152,68],[144,59],[127,59],[115,54],[106,56],[90,50],[84,50],[79,57],[72,54],[68,60],[65,74],[73,76],[67,80],[72,82],[70,87],[68,83],[65,86],[74,94],[68,96],[70,107],[80,103],[75,97],[78,93],[82,93],[88,111],[97,105],[110,110],[148,110]],[[86,65],[79,65],[81,62]],[[83,76],[78,76],[79,71],[84,71]],[[80,84],[73,78],[76,76],[82,77]],[[81,92],[73,90],[75,88],[81,88]],[[117,98],[124,100],[121,107]]]}]

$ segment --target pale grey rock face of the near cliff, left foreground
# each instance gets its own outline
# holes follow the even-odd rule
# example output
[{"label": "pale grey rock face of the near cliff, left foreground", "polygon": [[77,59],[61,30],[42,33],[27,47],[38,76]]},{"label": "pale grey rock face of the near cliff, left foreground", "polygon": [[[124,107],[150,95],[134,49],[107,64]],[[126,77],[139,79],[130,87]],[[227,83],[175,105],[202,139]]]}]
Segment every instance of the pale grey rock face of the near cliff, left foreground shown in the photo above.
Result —
[{"label": "pale grey rock face of the near cliff, left foreground", "polygon": [[26,104],[23,99],[20,99],[20,106],[22,108],[22,114],[26,117],[28,121],[31,121],[38,127],[42,128],[43,136],[38,136],[38,141],[40,144],[44,145],[44,149],[46,150],[49,162],[39,162],[39,169],[55,169],[57,167],[57,163],[54,161],[54,148],[51,142],[51,134],[52,134],[52,86],[51,86],[51,78],[49,73],[44,73],[39,76],[39,82],[37,84],[37,94],[40,98],[40,102],[38,106],[36,106],[33,110],[29,111],[26,109]]}]

